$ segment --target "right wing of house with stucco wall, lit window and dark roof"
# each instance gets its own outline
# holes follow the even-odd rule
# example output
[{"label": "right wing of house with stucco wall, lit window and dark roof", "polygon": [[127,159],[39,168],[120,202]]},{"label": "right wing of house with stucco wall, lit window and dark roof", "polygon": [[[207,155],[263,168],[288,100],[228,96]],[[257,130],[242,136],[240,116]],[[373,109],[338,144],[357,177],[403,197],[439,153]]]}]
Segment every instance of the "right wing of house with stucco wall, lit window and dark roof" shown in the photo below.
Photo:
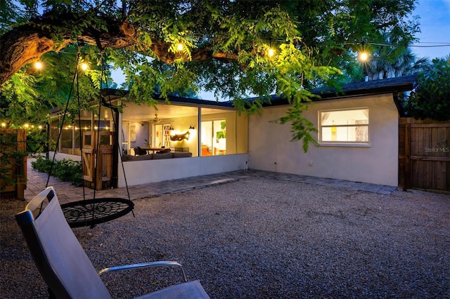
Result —
[{"label": "right wing of house with stucco wall, lit window and dark roof", "polygon": [[304,153],[302,142],[289,142],[290,127],[271,123],[288,105],[272,100],[249,119],[252,168],[380,185],[398,185],[399,93],[411,91],[416,76],[348,84],[342,91],[316,91],[304,117],[317,128],[318,146]]}]

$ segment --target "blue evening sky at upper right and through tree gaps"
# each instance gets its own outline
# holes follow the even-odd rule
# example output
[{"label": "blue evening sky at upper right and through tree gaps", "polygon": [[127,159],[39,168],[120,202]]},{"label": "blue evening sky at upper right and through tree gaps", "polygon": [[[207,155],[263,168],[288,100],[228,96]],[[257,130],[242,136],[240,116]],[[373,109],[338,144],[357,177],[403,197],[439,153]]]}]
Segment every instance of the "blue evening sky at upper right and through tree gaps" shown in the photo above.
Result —
[{"label": "blue evening sky at upper right and through tree gaps", "polygon": [[[420,16],[420,32],[416,34],[419,41],[411,47],[417,58],[431,60],[450,55],[450,0],[419,0],[413,15]],[[122,72],[113,71],[113,79],[122,84]],[[214,100],[214,93],[202,92],[199,97]]]}]

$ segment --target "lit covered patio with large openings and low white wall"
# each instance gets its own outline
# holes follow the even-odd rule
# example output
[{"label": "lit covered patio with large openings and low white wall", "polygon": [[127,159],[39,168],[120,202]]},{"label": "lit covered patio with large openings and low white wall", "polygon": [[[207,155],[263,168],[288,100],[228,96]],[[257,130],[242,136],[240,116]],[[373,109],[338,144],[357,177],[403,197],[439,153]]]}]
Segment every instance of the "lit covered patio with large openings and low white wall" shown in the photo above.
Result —
[{"label": "lit covered patio with large openings and low white wall", "polygon": [[[101,107],[100,118],[80,112],[81,121],[63,126],[57,159],[80,160],[82,152],[86,161],[92,159],[86,143],[95,147],[96,138],[86,142],[86,133],[113,132],[113,139],[101,139],[102,145],[110,145],[108,154],[112,153],[103,163],[112,167],[103,169],[102,179],[112,182],[108,187],[124,187],[126,180],[128,185],[141,185],[237,171],[248,162],[248,117],[238,114],[231,102],[170,97],[169,103],[160,100],[149,107],[117,90],[105,90],[104,100],[124,107]],[[49,126],[54,143],[62,118],[62,112],[55,112]],[[159,154],[160,150],[169,153]]]}]

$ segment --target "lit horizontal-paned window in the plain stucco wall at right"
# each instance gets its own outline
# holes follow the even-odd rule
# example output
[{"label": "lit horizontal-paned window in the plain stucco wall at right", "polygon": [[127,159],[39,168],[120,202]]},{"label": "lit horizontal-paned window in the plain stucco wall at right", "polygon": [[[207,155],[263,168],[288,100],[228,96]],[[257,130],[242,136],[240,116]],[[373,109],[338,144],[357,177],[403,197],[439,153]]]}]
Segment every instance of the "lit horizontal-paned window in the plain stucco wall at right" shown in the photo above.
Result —
[{"label": "lit horizontal-paned window in the plain stucco wall at right", "polygon": [[320,142],[368,143],[368,124],[368,108],[320,111]]}]

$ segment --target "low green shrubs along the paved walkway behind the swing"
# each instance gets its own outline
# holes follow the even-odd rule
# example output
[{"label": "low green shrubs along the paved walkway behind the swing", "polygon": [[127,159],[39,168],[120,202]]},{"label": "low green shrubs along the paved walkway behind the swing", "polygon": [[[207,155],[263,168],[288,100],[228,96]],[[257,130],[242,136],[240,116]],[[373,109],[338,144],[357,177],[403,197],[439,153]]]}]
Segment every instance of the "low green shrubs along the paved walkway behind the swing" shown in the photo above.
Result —
[{"label": "low green shrubs along the paved walkway behind the swing", "polygon": [[72,182],[72,185],[82,186],[82,163],[81,161],[73,161],[71,159],[62,159],[56,161],[52,167],[50,159],[44,159],[38,156],[36,161],[31,162],[32,167],[42,173],[50,173],[59,180],[64,182]]}]

